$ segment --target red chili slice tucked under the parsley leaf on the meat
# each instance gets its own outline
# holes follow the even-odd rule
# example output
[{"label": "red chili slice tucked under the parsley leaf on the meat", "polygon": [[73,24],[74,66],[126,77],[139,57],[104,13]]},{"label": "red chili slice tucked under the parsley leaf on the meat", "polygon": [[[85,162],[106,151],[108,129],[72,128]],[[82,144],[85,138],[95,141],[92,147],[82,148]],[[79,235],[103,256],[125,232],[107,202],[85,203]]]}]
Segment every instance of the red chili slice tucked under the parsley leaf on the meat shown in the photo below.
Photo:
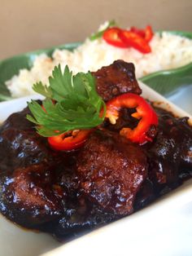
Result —
[{"label": "red chili slice tucked under the parsley leaf on the meat", "polygon": [[81,148],[92,130],[72,130],[48,138],[50,147],[55,150],[72,151]]}]

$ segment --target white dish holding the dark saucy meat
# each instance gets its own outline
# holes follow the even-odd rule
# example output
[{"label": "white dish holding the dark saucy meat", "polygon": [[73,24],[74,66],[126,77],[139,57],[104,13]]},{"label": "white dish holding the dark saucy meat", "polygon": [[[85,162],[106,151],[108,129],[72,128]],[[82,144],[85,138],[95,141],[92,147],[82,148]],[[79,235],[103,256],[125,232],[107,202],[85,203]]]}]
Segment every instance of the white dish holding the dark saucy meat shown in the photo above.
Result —
[{"label": "white dish holding the dark saucy meat", "polygon": [[[142,95],[177,116],[188,116],[149,87]],[[0,121],[24,108],[32,97],[0,104]],[[37,99],[37,95],[33,97]],[[190,117],[192,123],[192,117]],[[116,223],[61,245],[44,233],[26,231],[0,216],[0,255],[192,255],[192,179],[155,203]],[[55,247],[57,249],[51,250]]]}]

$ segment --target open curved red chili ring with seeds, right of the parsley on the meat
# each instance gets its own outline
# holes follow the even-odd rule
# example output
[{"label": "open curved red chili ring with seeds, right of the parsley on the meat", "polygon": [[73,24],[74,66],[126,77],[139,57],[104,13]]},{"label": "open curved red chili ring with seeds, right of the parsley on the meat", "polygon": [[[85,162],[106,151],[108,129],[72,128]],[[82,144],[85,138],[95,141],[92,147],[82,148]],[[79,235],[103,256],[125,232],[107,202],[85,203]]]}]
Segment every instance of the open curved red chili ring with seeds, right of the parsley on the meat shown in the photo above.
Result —
[{"label": "open curved red chili ring with seeds, right of the parsley on the meat", "polygon": [[158,117],[151,105],[141,96],[133,93],[126,93],[111,99],[107,102],[106,113],[106,117],[109,118],[111,123],[116,123],[121,108],[136,108],[137,112],[131,116],[137,118],[139,122],[133,130],[130,128],[121,129],[120,135],[123,135],[134,143],[143,144],[147,141],[152,141],[152,138],[147,133],[151,129],[151,126],[158,125]]}]

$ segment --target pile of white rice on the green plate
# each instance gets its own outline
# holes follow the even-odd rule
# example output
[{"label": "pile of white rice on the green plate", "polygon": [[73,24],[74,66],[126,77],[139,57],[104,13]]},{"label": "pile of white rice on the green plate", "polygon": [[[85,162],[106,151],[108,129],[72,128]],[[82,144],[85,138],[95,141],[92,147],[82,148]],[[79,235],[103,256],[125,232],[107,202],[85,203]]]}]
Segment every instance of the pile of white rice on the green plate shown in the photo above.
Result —
[{"label": "pile of white rice on the green plate", "polygon": [[[104,24],[103,26],[106,26]],[[103,29],[103,26],[100,29]],[[38,55],[30,70],[21,69],[19,75],[6,82],[7,88],[13,97],[32,95],[33,83],[48,84],[55,65],[61,64],[64,68],[68,64],[73,73],[96,71],[114,60],[133,62],[137,78],[155,71],[178,68],[192,62],[192,40],[181,38],[170,33],[155,33],[151,42],[151,53],[142,54],[133,48],[122,49],[110,46],[99,38],[90,41],[89,38],[76,48],[75,51],[55,50],[52,59],[45,54]]]}]

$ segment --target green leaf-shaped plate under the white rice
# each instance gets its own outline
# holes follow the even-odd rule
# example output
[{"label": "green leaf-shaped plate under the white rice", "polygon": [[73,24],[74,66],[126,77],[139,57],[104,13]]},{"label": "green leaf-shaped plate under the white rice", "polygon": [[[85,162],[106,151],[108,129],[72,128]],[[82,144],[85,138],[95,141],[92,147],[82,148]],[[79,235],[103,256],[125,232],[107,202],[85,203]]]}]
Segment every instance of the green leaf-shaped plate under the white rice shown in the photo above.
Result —
[{"label": "green leaf-shaped plate under the white rice", "polygon": [[[159,33],[162,32],[159,31]],[[168,31],[168,33],[174,33],[182,37],[192,39],[192,33],[190,32]],[[72,51],[80,45],[80,42],[75,42],[61,46],[54,46],[50,49],[32,51],[0,61],[0,101],[11,99],[10,92],[7,90],[5,82],[11,79],[15,74],[18,74],[20,68],[30,69],[33,66],[33,60],[36,55],[46,53],[51,56],[55,49],[66,49]],[[157,90],[160,94],[167,96],[181,86],[192,85],[192,63],[181,68],[151,73],[146,77],[142,77],[140,80],[146,83],[146,85],[151,86],[151,88]]]}]

